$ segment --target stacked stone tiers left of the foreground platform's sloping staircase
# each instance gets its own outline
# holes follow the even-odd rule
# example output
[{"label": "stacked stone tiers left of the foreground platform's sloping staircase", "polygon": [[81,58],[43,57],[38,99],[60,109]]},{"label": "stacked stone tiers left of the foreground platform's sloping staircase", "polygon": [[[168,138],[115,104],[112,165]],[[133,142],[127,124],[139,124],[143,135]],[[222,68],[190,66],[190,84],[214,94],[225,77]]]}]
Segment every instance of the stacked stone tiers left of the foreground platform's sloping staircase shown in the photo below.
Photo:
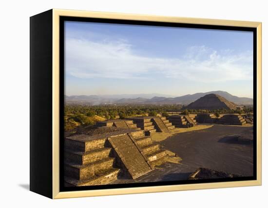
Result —
[{"label": "stacked stone tiers left of the foreground platform's sloping staircase", "polygon": [[66,187],[109,184],[120,169],[111,157],[106,138],[79,134],[65,138],[64,181]]}]

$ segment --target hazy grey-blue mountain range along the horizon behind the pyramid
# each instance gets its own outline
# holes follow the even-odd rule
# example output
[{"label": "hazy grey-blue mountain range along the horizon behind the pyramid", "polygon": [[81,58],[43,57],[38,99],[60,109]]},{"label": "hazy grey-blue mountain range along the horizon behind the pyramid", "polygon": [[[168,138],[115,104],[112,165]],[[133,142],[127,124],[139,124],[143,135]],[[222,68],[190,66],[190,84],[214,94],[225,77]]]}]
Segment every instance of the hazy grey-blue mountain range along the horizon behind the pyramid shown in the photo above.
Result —
[{"label": "hazy grey-blue mountain range along the horizon behind the pyramid", "polygon": [[208,95],[217,94],[230,102],[242,105],[252,105],[252,98],[237,97],[225,91],[210,91],[173,97],[163,94],[121,94],[121,95],[65,95],[66,103],[85,104],[190,104],[197,99]]}]

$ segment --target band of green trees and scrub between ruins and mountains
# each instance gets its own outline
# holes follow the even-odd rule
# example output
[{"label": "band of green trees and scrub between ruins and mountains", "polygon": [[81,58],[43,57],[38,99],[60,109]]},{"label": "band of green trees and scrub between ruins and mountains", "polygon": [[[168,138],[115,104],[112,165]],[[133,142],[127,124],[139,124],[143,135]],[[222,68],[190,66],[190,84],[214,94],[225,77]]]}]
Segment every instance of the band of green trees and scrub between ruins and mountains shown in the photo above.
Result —
[{"label": "band of green trees and scrub between ruins and mountains", "polygon": [[78,126],[94,125],[97,121],[106,119],[124,119],[132,116],[169,116],[169,112],[178,112],[188,115],[189,113],[215,113],[215,115],[226,113],[252,113],[253,107],[244,106],[238,110],[192,110],[184,109],[183,105],[65,105],[64,107],[64,129],[70,131]]}]

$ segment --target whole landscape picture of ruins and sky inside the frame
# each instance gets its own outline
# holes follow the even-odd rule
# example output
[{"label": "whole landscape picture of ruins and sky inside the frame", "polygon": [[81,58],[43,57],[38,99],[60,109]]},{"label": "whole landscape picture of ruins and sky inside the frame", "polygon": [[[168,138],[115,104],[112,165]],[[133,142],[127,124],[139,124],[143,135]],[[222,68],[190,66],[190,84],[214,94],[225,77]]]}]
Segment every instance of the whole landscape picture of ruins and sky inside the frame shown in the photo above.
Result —
[{"label": "whole landscape picture of ruins and sky inside the frame", "polygon": [[253,176],[252,32],[64,28],[64,187]]}]

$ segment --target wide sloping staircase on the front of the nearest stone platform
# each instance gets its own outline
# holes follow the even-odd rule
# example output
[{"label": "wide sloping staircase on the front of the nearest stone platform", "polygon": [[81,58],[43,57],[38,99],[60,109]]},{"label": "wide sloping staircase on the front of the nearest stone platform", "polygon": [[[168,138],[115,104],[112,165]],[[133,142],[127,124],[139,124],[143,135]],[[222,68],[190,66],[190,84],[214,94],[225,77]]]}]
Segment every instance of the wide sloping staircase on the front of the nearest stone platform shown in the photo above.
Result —
[{"label": "wide sloping staircase on the front of the nearest stone platform", "polygon": [[108,141],[115,149],[120,161],[125,166],[125,170],[135,179],[148,172],[153,168],[150,166],[147,157],[135,144],[130,134],[124,134],[108,138]]}]

